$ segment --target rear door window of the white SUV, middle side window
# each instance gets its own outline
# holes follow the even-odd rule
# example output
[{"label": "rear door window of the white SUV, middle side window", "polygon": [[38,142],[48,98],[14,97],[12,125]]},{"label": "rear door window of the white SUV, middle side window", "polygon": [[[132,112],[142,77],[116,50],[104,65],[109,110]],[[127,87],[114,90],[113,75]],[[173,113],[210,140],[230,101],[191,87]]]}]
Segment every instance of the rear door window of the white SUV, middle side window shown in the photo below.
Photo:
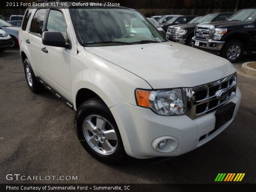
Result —
[{"label": "rear door window of the white SUV, middle side window", "polygon": [[31,22],[30,32],[42,35],[46,9],[38,9]]}]

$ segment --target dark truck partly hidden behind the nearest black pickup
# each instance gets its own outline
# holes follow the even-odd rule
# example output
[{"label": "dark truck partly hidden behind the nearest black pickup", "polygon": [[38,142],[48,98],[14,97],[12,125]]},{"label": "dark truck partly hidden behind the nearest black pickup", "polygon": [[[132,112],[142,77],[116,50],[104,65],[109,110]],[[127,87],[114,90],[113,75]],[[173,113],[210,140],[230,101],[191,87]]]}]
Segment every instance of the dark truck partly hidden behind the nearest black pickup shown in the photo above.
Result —
[{"label": "dark truck partly hidden behind the nearest black pickup", "polygon": [[230,17],[232,14],[234,14],[234,12],[207,14],[194,23],[169,27],[166,33],[166,35],[168,35],[167,38],[177,43],[192,46],[192,37],[194,36],[194,30],[197,24],[223,21]]}]

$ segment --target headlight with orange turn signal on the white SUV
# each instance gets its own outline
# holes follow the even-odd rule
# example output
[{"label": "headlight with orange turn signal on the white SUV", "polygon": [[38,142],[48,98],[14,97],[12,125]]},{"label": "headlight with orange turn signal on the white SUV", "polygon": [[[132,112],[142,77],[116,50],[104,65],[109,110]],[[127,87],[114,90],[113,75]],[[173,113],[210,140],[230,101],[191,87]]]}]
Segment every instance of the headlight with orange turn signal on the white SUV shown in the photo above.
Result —
[{"label": "headlight with orange turn signal on the white SUV", "polygon": [[139,106],[151,108],[160,115],[182,115],[185,106],[181,89],[146,91],[136,90]]}]

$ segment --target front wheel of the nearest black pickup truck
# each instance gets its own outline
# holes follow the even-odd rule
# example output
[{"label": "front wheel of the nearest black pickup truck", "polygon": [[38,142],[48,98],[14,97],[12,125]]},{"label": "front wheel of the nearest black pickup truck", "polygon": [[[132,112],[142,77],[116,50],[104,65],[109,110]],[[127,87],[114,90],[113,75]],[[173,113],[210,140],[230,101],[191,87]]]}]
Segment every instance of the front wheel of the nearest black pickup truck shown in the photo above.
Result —
[{"label": "front wheel of the nearest black pickup truck", "polygon": [[236,62],[244,54],[244,45],[241,41],[230,40],[224,44],[220,54],[230,62]]}]

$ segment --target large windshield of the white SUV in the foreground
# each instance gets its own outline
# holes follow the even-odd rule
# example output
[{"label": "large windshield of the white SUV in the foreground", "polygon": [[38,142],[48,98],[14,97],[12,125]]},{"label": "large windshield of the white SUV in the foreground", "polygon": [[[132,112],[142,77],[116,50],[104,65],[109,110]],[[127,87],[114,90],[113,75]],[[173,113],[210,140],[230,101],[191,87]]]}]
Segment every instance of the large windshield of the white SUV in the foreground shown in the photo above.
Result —
[{"label": "large windshield of the white SUV in the foreground", "polygon": [[[122,8],[70,8],[83,46],[166,41],[140,13]],[[74,24],[75,25],[75,24]]]}]

